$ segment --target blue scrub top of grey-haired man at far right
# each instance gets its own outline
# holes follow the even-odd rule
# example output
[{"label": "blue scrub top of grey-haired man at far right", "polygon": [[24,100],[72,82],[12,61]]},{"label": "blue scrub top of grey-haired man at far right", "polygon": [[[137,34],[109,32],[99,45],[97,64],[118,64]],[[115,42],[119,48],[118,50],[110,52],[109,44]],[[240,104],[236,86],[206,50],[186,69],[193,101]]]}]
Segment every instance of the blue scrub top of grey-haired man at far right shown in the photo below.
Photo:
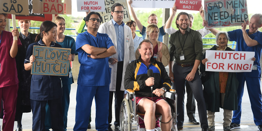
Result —
[{"label": "blue scrub top of grey-haired man at far right", "polygon": [[[249,29],[246,30],[247,34]],[[249,35],[253,40],[256,40],[259,44],[256,46],[248,47],[245,43],[243,32],[241,29],[233,30],[228,32],[229,40],[236,41],[236,51],[243,52],[255,52],[256,61],[254,65],[257,65],[257,70],[252,70],[252,72],[237,72],[238,75],[247,76],[247,77],[261,77],[261,66],[260,66],[260,57],[262,52],[262,32],[257,31]]]}]

